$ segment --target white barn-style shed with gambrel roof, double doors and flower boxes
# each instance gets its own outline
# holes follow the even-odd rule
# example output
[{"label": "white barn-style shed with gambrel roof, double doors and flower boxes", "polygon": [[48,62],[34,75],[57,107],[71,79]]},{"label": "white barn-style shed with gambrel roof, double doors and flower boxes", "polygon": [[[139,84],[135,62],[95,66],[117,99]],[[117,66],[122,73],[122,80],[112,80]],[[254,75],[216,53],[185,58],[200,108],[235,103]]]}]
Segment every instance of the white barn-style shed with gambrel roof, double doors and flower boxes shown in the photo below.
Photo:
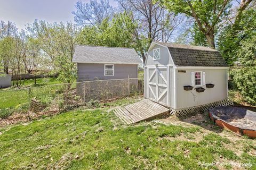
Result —
[{"label": "white barn-style shed with gambrel roof, double doors and flower boxes", "polygon": [[145,98],[171,113],[223,104],[228,68],[218,50],[153,41],[145,61]]}]

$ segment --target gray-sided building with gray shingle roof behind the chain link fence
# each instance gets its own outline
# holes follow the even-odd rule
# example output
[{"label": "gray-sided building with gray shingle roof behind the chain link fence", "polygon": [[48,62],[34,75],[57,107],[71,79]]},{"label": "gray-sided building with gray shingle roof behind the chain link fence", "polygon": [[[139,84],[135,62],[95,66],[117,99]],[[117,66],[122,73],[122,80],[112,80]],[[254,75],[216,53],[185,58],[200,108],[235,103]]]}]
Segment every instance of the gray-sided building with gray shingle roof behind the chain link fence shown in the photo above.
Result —
[{"label": "gray-sided building with gray shingle roof behind the chain link fence", "polygon": [[133,48],[82,46],[75,47],[79,81],[138,78],[140,57]]}]

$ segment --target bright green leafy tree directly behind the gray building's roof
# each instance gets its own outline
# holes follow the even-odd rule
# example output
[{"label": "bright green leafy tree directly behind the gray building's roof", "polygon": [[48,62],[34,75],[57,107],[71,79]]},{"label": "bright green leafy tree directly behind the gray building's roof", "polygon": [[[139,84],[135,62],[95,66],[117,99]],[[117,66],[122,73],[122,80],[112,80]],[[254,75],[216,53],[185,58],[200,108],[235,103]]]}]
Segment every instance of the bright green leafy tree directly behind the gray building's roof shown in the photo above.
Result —
[{"label": "bright green leafy tree directly behind the gray building's roof", "polygon": [[131,13],[120,13],[114,15],[111,21],[107,18],[99,25],[86,26],[78,37],[78,43],[137,49],[137,39],[134,37],[137,28],[138,24],[132,20]]}]

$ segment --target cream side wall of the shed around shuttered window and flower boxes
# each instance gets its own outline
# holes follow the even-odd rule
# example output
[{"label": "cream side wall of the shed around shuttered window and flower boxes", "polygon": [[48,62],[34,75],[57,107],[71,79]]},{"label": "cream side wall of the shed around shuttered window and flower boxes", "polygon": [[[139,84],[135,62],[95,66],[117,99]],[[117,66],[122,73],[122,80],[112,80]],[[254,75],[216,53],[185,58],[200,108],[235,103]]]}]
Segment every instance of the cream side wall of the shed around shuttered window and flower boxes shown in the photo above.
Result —
[{"label": "cream side wall of the shed around shuttered window and flower boxes", "polygon": [[[187,108],[209,104],[227,98],[227,69],[180,69],[186,73],[177,71],[177,108]],[[215,84],[214,88],[205,88],[204,92],[193,90],[186,91],[183,86],[191,86],[191,72],[205,72],[205,83]]]}]

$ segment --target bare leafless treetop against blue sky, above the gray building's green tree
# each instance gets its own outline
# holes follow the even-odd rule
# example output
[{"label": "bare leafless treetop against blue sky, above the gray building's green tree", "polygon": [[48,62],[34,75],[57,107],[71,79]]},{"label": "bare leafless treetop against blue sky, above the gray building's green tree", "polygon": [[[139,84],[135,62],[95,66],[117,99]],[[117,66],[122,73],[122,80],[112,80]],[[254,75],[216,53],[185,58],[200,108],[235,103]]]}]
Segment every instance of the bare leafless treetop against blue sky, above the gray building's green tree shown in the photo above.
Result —
[{"label": "bare leafless treetop against blue sky, above the gray building's green tree", "polygon": [[101,24],[104,19],[111,19],[114,15],[114,8],[109,5],[109,0],[100,0],[100,2],[90,0],[86,4],[78,1],[75,7],[76,12],[72,13],[75,15],[74,20],[78,25]]}]

